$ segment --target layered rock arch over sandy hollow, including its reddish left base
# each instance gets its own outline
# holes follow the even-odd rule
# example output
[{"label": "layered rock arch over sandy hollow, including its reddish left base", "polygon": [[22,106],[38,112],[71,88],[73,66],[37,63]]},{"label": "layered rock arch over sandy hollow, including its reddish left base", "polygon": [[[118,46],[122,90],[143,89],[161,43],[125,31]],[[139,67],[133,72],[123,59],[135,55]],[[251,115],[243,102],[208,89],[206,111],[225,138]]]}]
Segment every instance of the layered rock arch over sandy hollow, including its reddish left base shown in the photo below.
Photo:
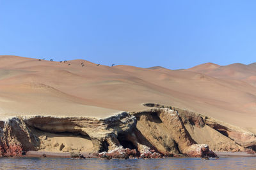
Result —
[{"label": "layered rock arch over sandy hollow, including its reddish left base", "polygon": [[[97,119],[83,117],[14,117],[0,122],[0,151],[3,156],[16,156],[28,150],[38,150],[45,136],[38,138],[31,129],[44,132],[72,132],[88,136],[94,153],[108,151],[120,145],[118,134],[131,132],[136,127],[136,118],[123,112],[113,117]],[[63,144],[62,144],[63,145]],[[61,147],[61,145],[60,145]],[[63,150],[65,146],[62,146]]]}]

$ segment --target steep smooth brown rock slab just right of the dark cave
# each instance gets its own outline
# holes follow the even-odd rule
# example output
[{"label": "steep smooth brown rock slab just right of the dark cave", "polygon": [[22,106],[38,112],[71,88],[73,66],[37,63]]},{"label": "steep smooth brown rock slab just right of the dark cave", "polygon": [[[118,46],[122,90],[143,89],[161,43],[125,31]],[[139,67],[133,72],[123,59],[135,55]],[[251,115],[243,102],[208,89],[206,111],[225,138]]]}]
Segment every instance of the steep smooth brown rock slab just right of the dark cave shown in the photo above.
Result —
[{"label": "steep smooth brown rock slab just right of the dark cave", "polygon": [[138,121],[135,134],[140,143],[163,155],[183,153],[188,146],[195,144],[173,110],[154,108],[133,115]]}]

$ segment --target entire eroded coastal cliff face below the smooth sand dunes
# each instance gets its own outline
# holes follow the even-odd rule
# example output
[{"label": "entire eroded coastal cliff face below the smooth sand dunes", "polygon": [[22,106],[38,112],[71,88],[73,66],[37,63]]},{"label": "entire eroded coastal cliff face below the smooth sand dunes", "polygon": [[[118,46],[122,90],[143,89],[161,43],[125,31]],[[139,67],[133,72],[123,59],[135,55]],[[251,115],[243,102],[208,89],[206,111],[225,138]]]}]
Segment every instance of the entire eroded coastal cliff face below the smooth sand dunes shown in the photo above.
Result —
[{"label": "entire eroded coastal cliff face below the smooth sand dunes", "polygon": [[[109,118],[31,116],[0,122],[3,156],[55,148],[99,157],[216,157],[216,151],[255,150],[256,136],[243,129],[177,108],[122,112]],[[60,139],[59,139],[60,138]],[[73,142],[65,142],[72,138]],[[65,139],[65,140],[63,140]],[[76,141],[85,141],[76,143]],[[74,146],[81,145],[81,146]]]}]

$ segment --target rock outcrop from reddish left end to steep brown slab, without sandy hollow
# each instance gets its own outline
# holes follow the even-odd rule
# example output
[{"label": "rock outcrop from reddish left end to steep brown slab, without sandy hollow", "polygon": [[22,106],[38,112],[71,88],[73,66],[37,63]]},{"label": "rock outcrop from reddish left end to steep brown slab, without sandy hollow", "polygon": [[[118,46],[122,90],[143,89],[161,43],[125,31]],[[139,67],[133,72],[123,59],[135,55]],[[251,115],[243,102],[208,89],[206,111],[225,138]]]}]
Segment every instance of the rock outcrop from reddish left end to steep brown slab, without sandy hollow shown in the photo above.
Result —
[{"label": "rock outcrop from reddish left end to steep brown slab, without sandy hollow", "polygon": [[[154,108],[131,114],[122,112],[104,119],[50,116],[10,118],[1,122],[1,154],[15,156],[40,149],[40,145],[50,139],[38,136],[36,131],[81,134],[92,141],[93,153],[107,159],[160,158],[180,153],[189,155],[192,150],[189,148],[196,144],[176,111]],[[63,143],[54,143],[53,146],[59,146],[62,152],[69,152]],[[196,152],[190,155],[200,157],[200,154]]]}]

